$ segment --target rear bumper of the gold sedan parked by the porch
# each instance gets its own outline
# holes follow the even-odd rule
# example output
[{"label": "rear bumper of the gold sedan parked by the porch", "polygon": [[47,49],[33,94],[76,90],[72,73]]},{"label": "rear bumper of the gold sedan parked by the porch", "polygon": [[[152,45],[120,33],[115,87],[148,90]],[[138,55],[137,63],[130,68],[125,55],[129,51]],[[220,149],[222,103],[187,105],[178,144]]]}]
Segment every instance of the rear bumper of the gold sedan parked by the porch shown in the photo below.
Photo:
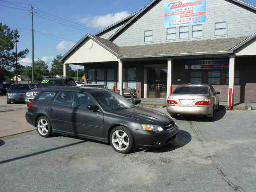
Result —
[{"label": "rear bumper of the gold sedan parked by the porch", "polygon": [[174,106],[167,105],[166,110],[170,114],[192,114],[192,115],[208,115],[212,112],[211,106]]}]

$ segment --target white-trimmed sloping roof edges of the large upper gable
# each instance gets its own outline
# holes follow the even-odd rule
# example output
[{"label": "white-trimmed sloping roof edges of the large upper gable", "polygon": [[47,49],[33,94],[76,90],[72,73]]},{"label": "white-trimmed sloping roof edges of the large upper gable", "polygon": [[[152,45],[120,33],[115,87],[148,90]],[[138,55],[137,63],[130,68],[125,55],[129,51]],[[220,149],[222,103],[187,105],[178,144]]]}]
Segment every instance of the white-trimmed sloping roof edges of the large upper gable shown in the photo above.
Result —
[{"label": "white-trimmed sloping roof edges of the large upper gable", "polygon": [[[120,29],[118,29],[112,36],[108,38],[108,40],[112,41],[118,34],[120,34],[123,30],[125,30],[127,27],[129,27],[133,22],[135,22],[140,16],[144,14],[147,10],[149,10],[152,6],[154,6],[156,3],[160,2],[161,0],[152,0],[147,6],[145,6],[142,10],[140,10],[133,18],[131,18],[126,24],[124,24]],[[226,0],[229,2],[233,2],[234,4],[240,5],[244,8],[248,8],[254,12],[256,12],[256,7],[247,4],[245,2],[242,2],[240,0]]]}]

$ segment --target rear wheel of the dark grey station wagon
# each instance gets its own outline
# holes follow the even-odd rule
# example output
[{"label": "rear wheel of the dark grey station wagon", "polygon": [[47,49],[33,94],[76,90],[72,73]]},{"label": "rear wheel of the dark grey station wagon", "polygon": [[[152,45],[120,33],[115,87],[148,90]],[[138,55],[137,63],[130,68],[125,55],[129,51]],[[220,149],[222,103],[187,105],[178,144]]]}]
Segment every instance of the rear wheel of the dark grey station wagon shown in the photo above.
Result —
[{"label": "rear wheel of the dark grey station wagon", "polygon": [[46,116],[41,116],[36,122],[36,129],[41,137],[50,137],[52,135],[52,126]]}]

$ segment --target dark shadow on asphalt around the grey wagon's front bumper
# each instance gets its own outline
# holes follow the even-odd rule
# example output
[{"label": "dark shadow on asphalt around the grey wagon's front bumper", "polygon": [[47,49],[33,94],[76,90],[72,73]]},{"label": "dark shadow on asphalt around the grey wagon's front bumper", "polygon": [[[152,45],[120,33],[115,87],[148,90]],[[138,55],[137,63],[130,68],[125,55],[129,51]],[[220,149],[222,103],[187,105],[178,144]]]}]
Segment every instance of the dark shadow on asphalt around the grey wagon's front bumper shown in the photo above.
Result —
[{"label": "dark shadow on asphalt around the grey wagon's front bumper", "polygon": [[140,148],[133,150],[133,153],[144,151],[144,152],[150,152],[150,153],[164,153],[164,152],[170,152],[173,150],[176,150],[178,148],[181,148],[188,144],[192,139],[192,136],[189,132],[186,132],[184,130],[179,130],[177,137],[170,142],[169,144],[162,146],[160,148]]}]

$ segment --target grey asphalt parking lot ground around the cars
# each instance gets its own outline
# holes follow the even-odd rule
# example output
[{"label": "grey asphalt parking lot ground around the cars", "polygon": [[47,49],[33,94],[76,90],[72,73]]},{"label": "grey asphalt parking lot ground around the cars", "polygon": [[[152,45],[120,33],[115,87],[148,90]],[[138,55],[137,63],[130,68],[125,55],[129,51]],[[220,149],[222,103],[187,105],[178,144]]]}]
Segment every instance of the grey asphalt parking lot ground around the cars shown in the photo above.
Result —
[{"label": "grey asphalt parking lot ground around the cars", "polygon": [[[0,103],[0,132],[33,129],[26,104]],[[1,137],[0,191],[254,192],[255,117],[256,110],[220,110],[213,121],[178,116],[175,141],[130,154],[72,136],[42,138],[36,130]]]}]

